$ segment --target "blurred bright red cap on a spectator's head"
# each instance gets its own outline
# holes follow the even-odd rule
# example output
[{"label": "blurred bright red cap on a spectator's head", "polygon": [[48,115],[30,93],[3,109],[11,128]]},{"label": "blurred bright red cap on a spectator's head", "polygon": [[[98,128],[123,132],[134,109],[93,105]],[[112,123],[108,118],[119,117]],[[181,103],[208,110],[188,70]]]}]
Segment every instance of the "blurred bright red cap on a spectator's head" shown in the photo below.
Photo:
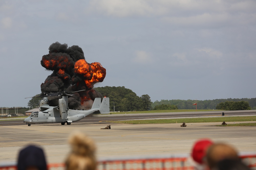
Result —
[{"label": "blurred bright red cap on a spectator's head", "polygon": [[206,151],[209,146],[211,146],[213,142],[209,139],[200,139],[198,140],[192,149],[191,156],[199,164],[203,163],[203,158],[206,155]]}]

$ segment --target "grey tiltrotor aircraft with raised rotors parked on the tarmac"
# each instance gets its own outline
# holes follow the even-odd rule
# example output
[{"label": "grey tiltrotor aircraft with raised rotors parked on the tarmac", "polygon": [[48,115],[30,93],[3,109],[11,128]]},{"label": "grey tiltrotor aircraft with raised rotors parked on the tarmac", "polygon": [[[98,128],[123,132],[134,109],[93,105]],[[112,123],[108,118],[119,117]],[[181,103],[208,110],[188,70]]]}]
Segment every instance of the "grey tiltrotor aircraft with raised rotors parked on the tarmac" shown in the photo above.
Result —
[{"label": "grey tiltrotor aircraft with raised rotors parked on the tarmac", "polygon": [[[83,90],[79,90],[83,91]],[[42,100],[39,100],[39,112],[32,112],[24,122],[30,126],[31,124],[36,123],[61,123],[61,125],[70,125],[71,122],[77,122],[84,117],[92,114],[93,112],[99,111],[101,114],[109,113],[109,98],[104,97],[102,102],[101,98],[95,98],[92,108],[90,110],[71,110],[68,108],[68,96],[73,96],[68,93],[74,92],[58,92],[58,93],[42,93],[39,96],[42,97]],[[49,106],[48,98],[49,96],[62,96],[62,99],[59,99],[59,105],[56,107]],[[28,97],[29,98],[29,97]]]}]

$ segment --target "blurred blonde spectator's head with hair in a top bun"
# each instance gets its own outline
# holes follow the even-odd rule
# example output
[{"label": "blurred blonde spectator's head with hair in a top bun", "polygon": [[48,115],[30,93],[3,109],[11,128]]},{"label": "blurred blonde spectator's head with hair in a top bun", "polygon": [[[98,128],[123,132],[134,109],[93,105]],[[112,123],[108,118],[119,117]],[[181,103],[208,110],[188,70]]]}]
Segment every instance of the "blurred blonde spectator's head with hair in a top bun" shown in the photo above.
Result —
[{"label": "blurred blonde spectator's head with hair in a top bun", "polygon": [[82,133],[75,133],[69,139],[71,153],[66,159],[66,170],[95,170],[95,144]]}]

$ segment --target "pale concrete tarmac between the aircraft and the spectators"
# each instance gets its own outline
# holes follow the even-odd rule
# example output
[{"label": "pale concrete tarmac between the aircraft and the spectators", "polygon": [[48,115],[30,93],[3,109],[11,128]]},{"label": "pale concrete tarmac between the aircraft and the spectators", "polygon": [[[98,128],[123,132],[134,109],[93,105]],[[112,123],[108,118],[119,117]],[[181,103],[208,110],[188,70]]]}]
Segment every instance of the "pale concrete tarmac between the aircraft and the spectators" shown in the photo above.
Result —
[{"label": "pale concrete tarmac between the aircraft and the spectators", "polygon": [[[252,121],[253,122],[253,121]],[[228,124],[234,122],[226,122]],[[238,122],[235,122],[238,123]],[[255,123],[255,121],[254,121]],[[41,146],[48,163],[61,163],[69,153],[67,139],[80,131],[94,139],[97,158],[159,155],[188,155],[194,142],[210,138],[225,142],[243,153],[256,153],[256,127],[216,127],[220,123],[108,124],[75,122],[71,125],[36,124],[1,126],[0,163],[15,162],[20,149],[29,144]]]}]

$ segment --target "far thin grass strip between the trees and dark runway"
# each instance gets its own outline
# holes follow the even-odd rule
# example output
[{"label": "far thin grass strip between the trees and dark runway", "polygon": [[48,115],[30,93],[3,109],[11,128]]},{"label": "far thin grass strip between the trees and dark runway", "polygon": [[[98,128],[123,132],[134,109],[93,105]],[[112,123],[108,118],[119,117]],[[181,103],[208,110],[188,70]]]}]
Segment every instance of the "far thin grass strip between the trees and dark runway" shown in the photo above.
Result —
[{"label": "far thin grass strip between the trees and dark runway", "polygon": [[195,109],[177,109],[177,110],[148,110],[134,112],[111,112],[109,114],[136,114],[136,113],[170,113],[170,112],[207,112],[207,111],[223,111],[223,110],[195,110]]}]

